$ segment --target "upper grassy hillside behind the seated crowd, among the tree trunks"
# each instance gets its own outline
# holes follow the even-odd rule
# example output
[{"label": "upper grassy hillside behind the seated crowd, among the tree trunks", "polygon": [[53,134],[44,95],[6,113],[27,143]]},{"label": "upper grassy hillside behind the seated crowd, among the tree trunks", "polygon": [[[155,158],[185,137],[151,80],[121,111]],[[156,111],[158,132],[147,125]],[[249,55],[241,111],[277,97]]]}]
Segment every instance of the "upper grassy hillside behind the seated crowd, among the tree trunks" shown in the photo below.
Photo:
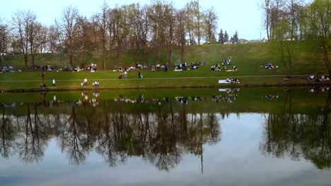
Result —
[{"label": "upper grassy hillside behind the seated crowd, among the tree trunks", "polygon": [[[316,74],[327,73],[324,63],[316,57],[315,54],[306,49],[306,45],[303,43],[296,44],[295,59],[292,67],[293,74]],[[136,52],[127,50],[120,53],[120,58],[115,58],[115,54],[111,54],[108,51],[107,54],[107,70],[113,70],[115,64],[119,66],[129,67],[136,63]],[[146,63],[151,66],[156,64],[156,51],[149,49],[145,54],[146,60],[144,60],[144,54],[141,52],[139,58],[140,63]],[[187,63],[191,62],[207,62],[207,66],[211,66],[214,63],[221,63],[225,58],[231,56],[233,58],[233,65],[239,68],[238,75],[265,75],[265,74],[284,74],[284,64],[281,62],[281,55],[277,48],[269,43],[252,43],[252,44],[210,44],[210,45],[193,45],[185,47],[184,60]],[[180,50],[173,49],[173,55],[171,58],[170,66],[180,63]],[[13,66],[16,70],[24,68],[22,55],[7,55],[2,56],[2,66]],[[160,63],[168,62],[165,57],[165,52],[161,52]],[[30,58],[29,58],[30,63]],[[53,54],[36,54],[35,63],[37,65],[50,65],[56,68],[69,67],[69,58],[65,54],[53,53]],[[82,66],[82,64],[98,64],[99,68],[102,68],[101,51],[92,51],[88,54],[76,54],[74,56],[74,67]],[[272,63],[274,66],[279,66],[278,69],[265,70],[260,69],[260,66],[265,66],[267,63]],[[101,69],[102,70],[102,69]]]}]

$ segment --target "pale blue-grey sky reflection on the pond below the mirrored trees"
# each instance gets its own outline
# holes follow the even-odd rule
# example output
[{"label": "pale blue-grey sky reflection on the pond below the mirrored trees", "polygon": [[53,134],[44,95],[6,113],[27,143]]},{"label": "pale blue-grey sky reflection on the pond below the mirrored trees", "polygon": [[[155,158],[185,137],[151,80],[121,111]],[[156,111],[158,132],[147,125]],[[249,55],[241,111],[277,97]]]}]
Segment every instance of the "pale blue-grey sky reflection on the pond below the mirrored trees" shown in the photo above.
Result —
[{"label": "pale blue-grey sky reflection on the pond below the mirrored trees", "polygon": [[[0,158],[1,185],[328,185],[330,171],[287,153],[276,158],[261,149],[269,113],[216,113],[219,141],[203,144],[203,154],[188,151],[168,171],[141,156],[127,156],[110,167],[91,148],[79,164],[69,161],[59,137],[51,137],[37,163],[16,153]],[[190,139],[189,139],[190,140]],[[179,147],[178,147],[179,148]],[[199,149],[199,148],[197,148]]]}]

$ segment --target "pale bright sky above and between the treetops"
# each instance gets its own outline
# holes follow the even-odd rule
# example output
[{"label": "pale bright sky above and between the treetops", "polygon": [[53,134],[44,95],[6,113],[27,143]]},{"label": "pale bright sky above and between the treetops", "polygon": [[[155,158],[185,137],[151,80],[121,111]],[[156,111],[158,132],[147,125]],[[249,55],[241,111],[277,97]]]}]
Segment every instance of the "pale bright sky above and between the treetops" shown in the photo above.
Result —
[{"label": "pale bright sky above and between the treetops", "polygon": [[[116,4],[151,4],[150,0],[106,0],[110,7]],[[170,0],[168,0],[170,1]],[[265,37],[262,27],[262,9],[258,4],[262,0],[199,0],[203,9],[214,7],[218,15],[218,29],[228,32],[229,36],[234,35],[238,30],[239,38],[260,39]],[[173,1],[176,8],[183,8],[190,0]],[[90,17],[93,13],[100,11],[103,0],[11,0],[1,1],[0,18],[11,20],[13,13],[18,10],[33,11],[37,15],[37,20],[47,26],[52,25],[55,19],[59,19],[65,6],[74,6],[78,8],[83,16]],[[216,37],[217,38],[217,37]]]}]

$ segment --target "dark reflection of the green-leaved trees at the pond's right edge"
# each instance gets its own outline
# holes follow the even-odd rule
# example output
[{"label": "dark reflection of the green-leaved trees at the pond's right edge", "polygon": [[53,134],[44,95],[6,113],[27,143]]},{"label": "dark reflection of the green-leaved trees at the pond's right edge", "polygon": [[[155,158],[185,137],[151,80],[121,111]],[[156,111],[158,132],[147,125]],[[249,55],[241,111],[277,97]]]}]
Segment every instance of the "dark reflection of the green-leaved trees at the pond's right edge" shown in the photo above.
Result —
[{"label": "dark reflection of the green-leaved trees at the pond's right edge", "polygon": [[303,157],[319,169],[331,168],[331,92],[323,108],[307,114],[294,113],[291,97],[288,91],[282,113],[267,116],[260,150],[277,158],[286,154],[294,160]]}]

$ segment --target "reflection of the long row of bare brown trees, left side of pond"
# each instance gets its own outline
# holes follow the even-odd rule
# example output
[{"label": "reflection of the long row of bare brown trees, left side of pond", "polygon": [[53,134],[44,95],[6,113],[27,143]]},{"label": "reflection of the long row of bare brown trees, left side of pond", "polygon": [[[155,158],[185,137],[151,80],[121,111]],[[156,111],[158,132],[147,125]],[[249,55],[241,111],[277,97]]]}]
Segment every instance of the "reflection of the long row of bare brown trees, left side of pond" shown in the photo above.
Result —
[{"label": "reflection of the long row of bare brown trees, left side of pond", "polygon": [[[83,163],[94,150],[109,166],[140,156],[159,170],[169,171],[184,154],[202,158],[204,144],[219,142],[216,113],[188,113],[186,104],[180,104],[178,111],[174,109],[174,104],[177,108],[179,104],[175,99],[151,100],[139,97],[136,101],[98,104],[87,99],[46,104],[44,100],[42,104],[23,104],[25,111],[15,115],[3,106],[1,156],[18,154],[25,163],[37,162],[44,156],[47,142],[55,138],[72,164]],[[61,104],[64,110],[60,110]],[[47,109],[52,105],[56,107]]]}]

